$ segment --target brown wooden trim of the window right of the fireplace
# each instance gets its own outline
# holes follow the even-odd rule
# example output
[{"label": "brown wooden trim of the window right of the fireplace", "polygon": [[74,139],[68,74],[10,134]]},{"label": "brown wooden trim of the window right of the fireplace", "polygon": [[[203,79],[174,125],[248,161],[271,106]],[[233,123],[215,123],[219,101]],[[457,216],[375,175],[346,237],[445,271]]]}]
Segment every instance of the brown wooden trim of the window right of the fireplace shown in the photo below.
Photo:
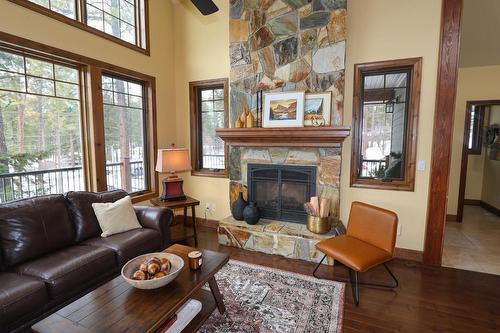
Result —
[{"label": "brown wooden trim of the window right of the fireplace", "polygon": [[[363,74],[376,73],[388,70],[409,69],[411,72],[411,82],[407,112],[406,127],[406,154],[404,165],[404,180],[386,182],[381,179],[366,179],[358,177],[358,155],[361,141],[361,116],[362,116],[362,96]],[[420,104],[420,85],[422,73],[422,58],[409,58],[356,64],[354,66],[354,100],[352,119],[352,155],[351,155],[351,187],[413,191],[415,189],[415,165],[417,157],[417,126],[418,112]]]}]

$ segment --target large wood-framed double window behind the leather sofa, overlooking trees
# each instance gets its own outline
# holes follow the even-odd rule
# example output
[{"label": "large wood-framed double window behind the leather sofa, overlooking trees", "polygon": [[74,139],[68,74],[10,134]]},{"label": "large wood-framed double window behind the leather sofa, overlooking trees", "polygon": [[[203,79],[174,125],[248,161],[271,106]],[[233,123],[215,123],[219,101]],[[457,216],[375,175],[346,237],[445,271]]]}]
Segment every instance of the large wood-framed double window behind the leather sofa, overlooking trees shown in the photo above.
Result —
[{"label": "large wood-framed double window behind the leather sofa, overlooking trees", "polygon": [[0,33],[0,202],[158,196],[154,91],[154,77]]}]

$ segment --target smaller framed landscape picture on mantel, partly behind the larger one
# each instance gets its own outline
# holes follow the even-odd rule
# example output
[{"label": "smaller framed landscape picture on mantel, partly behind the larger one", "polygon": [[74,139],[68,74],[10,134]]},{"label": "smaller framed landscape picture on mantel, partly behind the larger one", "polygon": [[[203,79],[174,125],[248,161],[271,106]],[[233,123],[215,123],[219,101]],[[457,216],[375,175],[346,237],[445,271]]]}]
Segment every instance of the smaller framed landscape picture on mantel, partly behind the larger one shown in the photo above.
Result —
[{"label": "smaller framed landscape picture on mantel, partly behind the larger one", "polygon": [[330,126],[331,117],[331,91],[305,95],[304,126]]}]

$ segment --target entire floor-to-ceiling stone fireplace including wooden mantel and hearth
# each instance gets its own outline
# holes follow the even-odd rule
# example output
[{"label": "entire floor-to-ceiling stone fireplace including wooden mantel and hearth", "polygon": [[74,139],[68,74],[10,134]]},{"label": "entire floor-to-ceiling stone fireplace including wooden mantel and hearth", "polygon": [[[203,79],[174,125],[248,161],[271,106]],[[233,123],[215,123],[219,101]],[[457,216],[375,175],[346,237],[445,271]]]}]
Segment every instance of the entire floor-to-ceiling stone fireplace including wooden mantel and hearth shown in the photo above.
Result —
[{"label": "entire floor-to-ceiling stone fireplace including wooden mantel and hearth", "polygon": [[[254,226],[232,217],[220,221],[219,243],[319,261],[314,245],[333,232],[309,232],[302,205],[314,194],[328,198],[330,216],[338,221],[340,147],[349,135],[349,128],[341,126],[346,0],[236,0],[229,6],[229,128],[217,133],[230,146],[231,204],[243,192],[257,201],[265,218]],[[243,111],[259,119],[258,91],[329,91],[331,126],[232,128]],[[309,171],[284,178],[287,169]],[[301,183],[305,174],[309,178]]]}]

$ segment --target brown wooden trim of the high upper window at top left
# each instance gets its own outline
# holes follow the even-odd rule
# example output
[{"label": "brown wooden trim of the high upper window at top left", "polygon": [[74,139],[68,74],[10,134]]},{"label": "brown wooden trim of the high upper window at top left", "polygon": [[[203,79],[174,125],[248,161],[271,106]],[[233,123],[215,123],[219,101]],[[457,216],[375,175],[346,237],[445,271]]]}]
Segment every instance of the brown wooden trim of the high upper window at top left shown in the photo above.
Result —
[{"label": "brown wooden trim of the high upper window at top left", "polygon": [[[85,0],[75,0],[77,1],[76,3],[76,9],[77,9],[77,18],[76,19],[72,19],[70,17],[67,17],[67,16],[64,16],[63,14],[60,14],[60,13],[57,13],[57,12],[54,12],[53,10],[49,9],[49,8],[46,8],[44,6],[41,6],[41,5],[38,5],[36,3],[33,3],[33,2],[30,2],[28,0],[8,0],[12,3],[15,3],[19,6],[22,6],[22,7],[25,7],[27,9],[30,9],[30,10],[33,10],[37,13],[40,13],[42,15],[45,15],[45,16],[48,16],[52,19],[55,19],[55,20],[58,20],[60,22],[63,22],[63,23],[66,23],[66,24],[69,24],[75,28],[78,28],[78,29],[81,29],[81,30],[84,30],[86,32],[89,32],[91,34],[94,34],[96,36],[99,36],[99,37],[102,37],[104,39],[107,39],[109,41],[112,41],[114,43],[117,43],[121,46],[125,46],[131,50],[134,50],[134,51],[137,51],[137,52],[140,52],[140,53],[143,53],[147,56],[150,55],[150,46],[149,46],[149,0],[144,0],[144,26],[137,26],[137,30],[139,32],[139,34],[137,34],[138,36],[138,41],[140,41],[141,39],[139,39],[140,36],[142,36],[143,34],[145,35],[145,41],[144,41],[144,45],[145,47],[142,48],[140,47],[139,45],[137,44],[132,44],[132,43],[129,43],[129,42],[126,42],[124,40],[121,40],[120,38],[118,37],[115,37],[113,35],[110,35],[108,33],[105,33],[104,31],[101,31],[99,29],[95,29],[93,27],[90,27],[87,25],[87,23],[85,23],[85,15],[86,15],[86,8],[85,8]],[[140,22],[140,20],[138,20],[138,23]],[[145,31],[142,31],[142,30],[145,30]]]}]

